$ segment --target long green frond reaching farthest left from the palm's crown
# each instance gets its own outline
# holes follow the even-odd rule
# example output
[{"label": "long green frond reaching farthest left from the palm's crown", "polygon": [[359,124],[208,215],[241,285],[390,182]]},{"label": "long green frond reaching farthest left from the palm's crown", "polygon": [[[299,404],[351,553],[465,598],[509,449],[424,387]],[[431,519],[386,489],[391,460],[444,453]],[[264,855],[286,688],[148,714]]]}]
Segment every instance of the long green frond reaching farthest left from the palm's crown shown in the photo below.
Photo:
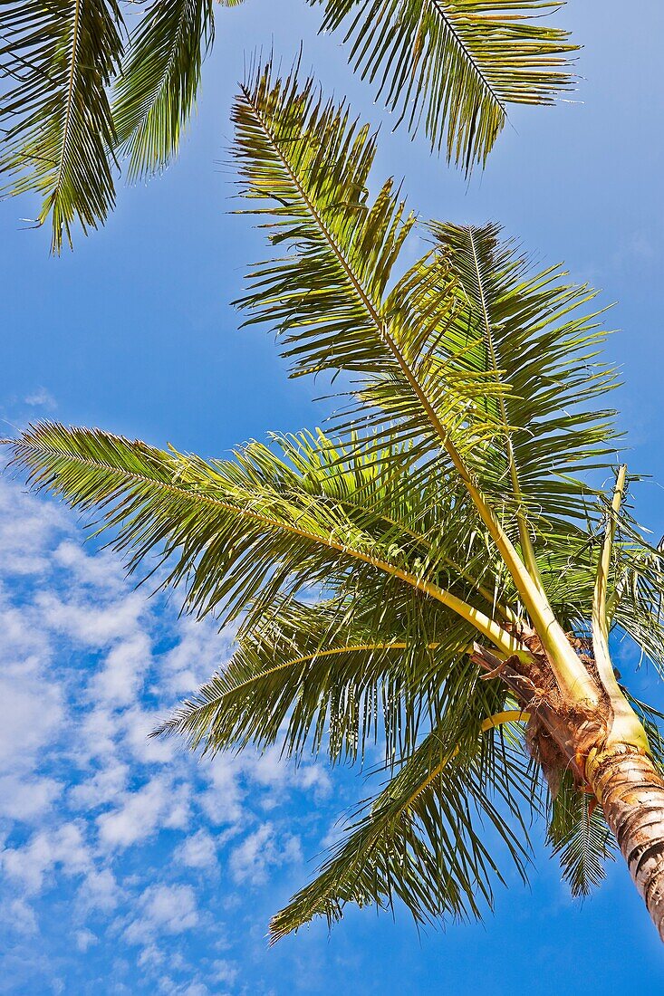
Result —
[{"label": "long green frond reaching farthest left from the palm's crown", "polygon": [[84,511],[104,509],[102,528],[116,530],[130,570],[149,557],[153,572],[165,564],[164,584],[182,584],[185,607],[198,616],[245,614],[251,623],[280,595],[338,586],[351,574],[383,577],[451,609],[505,652],[523,649],[483,609],[437,583],[436,560],[413,557],[415,540],[394,527],[376,536],[340,503],[280,487],[277,457],[270,480],[264,448],[257,462],[248,447],[234,461],[205,463],[99,429],[43,423],[13,450],[33,486]]}]

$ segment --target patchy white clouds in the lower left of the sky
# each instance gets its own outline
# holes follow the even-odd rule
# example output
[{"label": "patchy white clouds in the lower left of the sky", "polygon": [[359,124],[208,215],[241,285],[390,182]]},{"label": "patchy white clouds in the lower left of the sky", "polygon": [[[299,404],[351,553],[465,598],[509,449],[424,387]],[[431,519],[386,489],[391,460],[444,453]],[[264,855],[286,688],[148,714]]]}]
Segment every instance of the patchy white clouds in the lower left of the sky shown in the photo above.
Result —
[{"label": "patchy white clouds in the lower left of the sky", "polygon": [[[68,953],[55,950],[56,970],[45,947],[60,931],[79,963],[117,946],[114,992],[134,991],[140,960],[142,985],[216,996],[237,969],[212,957],[198,969],[187,934],[196,944],[207,936],[218,955],[223,917],[253,914],[241,895],[230,912],[219,864],[228,880],[256,884],[299,863],[278,807],[292,791],[322,798],[327,774],[286,765],[276,749],[201,761],[177,739],[149,739],[227,659],[232,633],[149,602],[117,558],[83,549],[71,523],[0,478],[0,548],[9,551],[0,561],[0,909],[26,937],[41,925],[44,991],[66,974]],[[270,822],[257,825],[264,806]],[[142,946],[138,956],[127,957],[129,943]]]}]

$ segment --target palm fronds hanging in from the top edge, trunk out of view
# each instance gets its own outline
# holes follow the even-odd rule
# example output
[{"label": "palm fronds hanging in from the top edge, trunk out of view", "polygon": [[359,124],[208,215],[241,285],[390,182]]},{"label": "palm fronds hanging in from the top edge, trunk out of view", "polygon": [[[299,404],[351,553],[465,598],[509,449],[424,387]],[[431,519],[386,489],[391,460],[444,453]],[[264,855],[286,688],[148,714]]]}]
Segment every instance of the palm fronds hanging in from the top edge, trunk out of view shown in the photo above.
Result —
[{"label": "palm fronds hanging in from the top edge, trunk out of view", "polygon": [[[224,7],[241,0],[219,0]],[[470,170],[485,161],[509,104],[551,104],[572,86],[566,32],[545,26],[550,0],[308,0],[340,28],[351,62],[386,104],[420,119],[432,146]],[[164,169],[191,114],[214,38],[212,0],[3,0],[0,173],[5,196],[42,198],[52,249],[97,228],[115,205],[117,166],[131,180]]]}]

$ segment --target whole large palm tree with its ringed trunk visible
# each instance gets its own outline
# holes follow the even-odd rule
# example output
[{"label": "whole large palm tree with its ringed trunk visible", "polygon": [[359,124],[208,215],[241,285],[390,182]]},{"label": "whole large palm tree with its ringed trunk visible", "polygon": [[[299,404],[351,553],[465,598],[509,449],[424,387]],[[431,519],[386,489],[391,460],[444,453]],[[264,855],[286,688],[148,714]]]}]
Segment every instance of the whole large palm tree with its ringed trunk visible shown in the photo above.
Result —
[{"label": "whole large palm tree with its ringed trunk visible", "polygon": [[664,938],[664,743],[609,651],[626,634],[662,668],[662,555],[616,462],[593,292],[494,225],[430,223],[405,268],[416,217],[391,179],[370,199],[375,138],[311,80],[258,68],[233,118],[246,210],[282,253],[249,274],[247,324],[276,328],[293,375],[342,374],[331,428],[206,462],[42,423],[15,466],[100,510],[189,612],[239,623],[158,732],[208,754],[384,751],[385,784],[273,938],[347,902],[480,916],[501,862],[525,874],[533,811],[575,894],[617,841]]}]

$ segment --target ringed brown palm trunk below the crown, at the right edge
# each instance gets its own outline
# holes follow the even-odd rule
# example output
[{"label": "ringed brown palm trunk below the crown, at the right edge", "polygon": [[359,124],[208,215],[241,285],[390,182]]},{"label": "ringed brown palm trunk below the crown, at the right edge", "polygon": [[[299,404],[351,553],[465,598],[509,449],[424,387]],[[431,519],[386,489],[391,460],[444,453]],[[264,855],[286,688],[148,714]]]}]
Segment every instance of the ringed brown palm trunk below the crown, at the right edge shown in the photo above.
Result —
[{"label": "ringed brown palm trunk below the crown, at the right edge", "polygon": [[590,785],[664,941],[664,779],[628,744],[590,758]]}]

